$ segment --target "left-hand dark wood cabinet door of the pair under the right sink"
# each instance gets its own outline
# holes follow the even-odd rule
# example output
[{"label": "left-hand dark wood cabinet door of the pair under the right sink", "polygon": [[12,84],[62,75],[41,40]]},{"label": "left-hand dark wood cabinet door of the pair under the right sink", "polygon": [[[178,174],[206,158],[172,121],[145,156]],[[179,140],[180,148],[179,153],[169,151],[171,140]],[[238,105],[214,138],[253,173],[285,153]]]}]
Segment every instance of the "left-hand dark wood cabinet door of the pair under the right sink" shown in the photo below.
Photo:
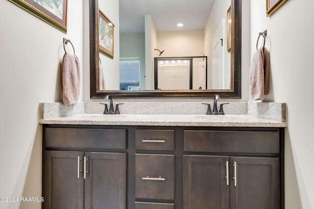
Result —
[{"label": "left-hand dark wood cabinet door of the pair under the right sink", "polygon": [[183,156],[183,209],[229,209],[228,156]]}]

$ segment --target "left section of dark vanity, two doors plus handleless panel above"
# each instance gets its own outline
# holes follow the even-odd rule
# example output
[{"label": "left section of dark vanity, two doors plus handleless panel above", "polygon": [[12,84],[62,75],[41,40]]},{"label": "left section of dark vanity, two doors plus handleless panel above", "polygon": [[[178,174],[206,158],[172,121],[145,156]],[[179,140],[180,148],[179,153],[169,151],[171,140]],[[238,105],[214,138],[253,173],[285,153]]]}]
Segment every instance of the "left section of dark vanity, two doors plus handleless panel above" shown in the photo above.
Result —
[{"label": "left section of dark vanity, two doors plus handleless panel above", "polygon": [[42,208],[126,209],[127,154],[113,150],[123,141],[126,130],[44,129]]}]

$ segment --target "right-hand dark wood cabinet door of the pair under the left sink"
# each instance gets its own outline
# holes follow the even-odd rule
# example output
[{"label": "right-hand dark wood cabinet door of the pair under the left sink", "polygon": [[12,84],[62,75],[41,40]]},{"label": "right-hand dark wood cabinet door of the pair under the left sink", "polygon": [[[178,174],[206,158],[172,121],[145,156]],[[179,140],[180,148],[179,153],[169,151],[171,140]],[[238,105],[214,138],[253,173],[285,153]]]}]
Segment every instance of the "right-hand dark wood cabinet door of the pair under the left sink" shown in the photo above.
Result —
[{"label": "right-hand dark wood cabinet door of the pair under the left sink", "polygon": [[85,208],[126,209],[126,153],[86,152]]}]

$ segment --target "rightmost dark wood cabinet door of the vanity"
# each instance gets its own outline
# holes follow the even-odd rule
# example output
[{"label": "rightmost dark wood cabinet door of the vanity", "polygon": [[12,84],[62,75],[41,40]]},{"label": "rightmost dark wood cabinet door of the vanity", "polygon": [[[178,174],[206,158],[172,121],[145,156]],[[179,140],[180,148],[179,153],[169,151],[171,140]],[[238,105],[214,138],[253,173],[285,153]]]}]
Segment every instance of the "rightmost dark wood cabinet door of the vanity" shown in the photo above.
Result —
[{"label": "rightmost dark wood cabinet door of the vanity", "polygon": [[280,209],[278,158],[230,157],[231,209]]}]

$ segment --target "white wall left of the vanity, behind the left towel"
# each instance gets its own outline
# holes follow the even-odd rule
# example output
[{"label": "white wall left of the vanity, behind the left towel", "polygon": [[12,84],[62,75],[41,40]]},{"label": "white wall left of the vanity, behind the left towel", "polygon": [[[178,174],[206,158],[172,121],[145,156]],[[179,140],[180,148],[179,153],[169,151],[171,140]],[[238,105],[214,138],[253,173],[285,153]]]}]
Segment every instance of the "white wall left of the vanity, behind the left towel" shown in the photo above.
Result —
[{"label": "white wall left of the vanity, behind the left towel", "polygon": [[[71,40],[83,66],[82,2],[69,0],[65,34],[12,2],[0,1],[0,197],[42,195],[38,105],[62,102],[63,38]],[[40,209],[41,203],[0,202],[0,208]]]}]

